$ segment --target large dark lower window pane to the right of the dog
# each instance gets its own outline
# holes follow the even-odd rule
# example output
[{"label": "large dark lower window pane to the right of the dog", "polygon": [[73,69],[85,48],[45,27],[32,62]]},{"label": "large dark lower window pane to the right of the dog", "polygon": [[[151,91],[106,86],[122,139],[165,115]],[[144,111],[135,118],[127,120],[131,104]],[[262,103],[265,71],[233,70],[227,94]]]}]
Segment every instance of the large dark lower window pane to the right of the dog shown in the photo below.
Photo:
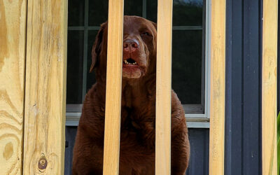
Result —
[{"label": "large dark lower window pane to the right of the dog", "polygon": [[201,104],[202,30],[173,31],[172,88],[182,104]]}]

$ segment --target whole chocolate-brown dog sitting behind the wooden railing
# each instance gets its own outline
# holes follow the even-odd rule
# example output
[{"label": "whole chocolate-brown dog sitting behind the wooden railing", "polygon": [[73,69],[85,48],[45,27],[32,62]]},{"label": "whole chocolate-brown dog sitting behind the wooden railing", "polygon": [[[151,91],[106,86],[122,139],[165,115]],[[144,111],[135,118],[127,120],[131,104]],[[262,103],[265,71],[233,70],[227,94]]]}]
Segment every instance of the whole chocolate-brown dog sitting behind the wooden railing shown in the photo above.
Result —
[{"label": "whole chocolate-brown dog sitting behind the wooden railing", "polygon": [[[73,149],[73,174],[102,174],[107,33],[105,22],[92,48],[97,83],[87,92]],[[120,131],[120,174],[155,174],[155,23],[125,16]],[[172,90],[172,174],[185,174],[190,145],[185,113]]]}]

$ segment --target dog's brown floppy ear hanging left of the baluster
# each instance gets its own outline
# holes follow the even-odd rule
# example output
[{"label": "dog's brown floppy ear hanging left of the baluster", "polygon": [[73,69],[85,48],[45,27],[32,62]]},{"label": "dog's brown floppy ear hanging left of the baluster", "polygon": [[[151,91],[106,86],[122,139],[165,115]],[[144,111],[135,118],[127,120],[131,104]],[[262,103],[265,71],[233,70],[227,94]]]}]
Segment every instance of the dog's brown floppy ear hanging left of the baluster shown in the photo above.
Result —
[{"label": "dog's brown floppy ear hanging left of the baluster", "polygon": [[95,38],[94,44],[92,46],[92,65],[90,66],[90,72],[92,72],[93,69],[98,64],[99,55],[102,50],[102,40],[103,40],[103,34],[104,34],[104,29],[106,27],[106,24],[107,24],[107,22],[105,22],[101,25],[101,28],[99,29],[97,36]]}]

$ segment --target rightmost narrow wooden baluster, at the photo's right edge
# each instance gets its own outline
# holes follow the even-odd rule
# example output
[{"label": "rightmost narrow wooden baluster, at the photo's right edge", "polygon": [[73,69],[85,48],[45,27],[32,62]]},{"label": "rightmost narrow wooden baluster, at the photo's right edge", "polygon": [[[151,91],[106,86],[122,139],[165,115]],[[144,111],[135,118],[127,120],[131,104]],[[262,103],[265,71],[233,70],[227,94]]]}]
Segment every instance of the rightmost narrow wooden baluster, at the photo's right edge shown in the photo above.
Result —
[{"label": "rightmost narrow wooden baluster, at the photo's right edge", "polygon": [[263,1],[262,23],[262,174],[277,174],[277,20],[278,1]]}]

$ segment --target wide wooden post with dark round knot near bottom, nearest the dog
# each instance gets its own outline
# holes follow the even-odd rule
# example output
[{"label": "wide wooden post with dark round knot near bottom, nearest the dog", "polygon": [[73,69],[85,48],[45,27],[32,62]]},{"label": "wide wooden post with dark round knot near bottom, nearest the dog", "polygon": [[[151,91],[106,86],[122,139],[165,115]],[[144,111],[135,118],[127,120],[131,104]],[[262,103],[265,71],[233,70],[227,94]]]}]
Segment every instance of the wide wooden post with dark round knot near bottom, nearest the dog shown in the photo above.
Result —
[{"label": "wide wooden post with dark round knot near bottom, nearest the dog", "polygon": [[24,174],[64,174],[67,1],[29,0]]}]

